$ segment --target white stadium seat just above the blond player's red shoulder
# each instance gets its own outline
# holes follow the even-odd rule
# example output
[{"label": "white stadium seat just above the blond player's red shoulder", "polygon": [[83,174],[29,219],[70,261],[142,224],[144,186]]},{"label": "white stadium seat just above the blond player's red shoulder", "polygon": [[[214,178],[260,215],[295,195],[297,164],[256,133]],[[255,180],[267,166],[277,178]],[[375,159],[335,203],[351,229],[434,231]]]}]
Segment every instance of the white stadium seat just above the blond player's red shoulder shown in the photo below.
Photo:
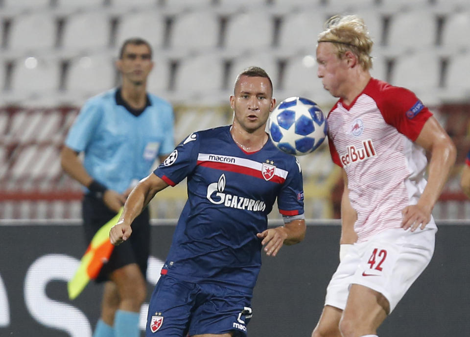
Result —
[{"label": "white stadium seat just above the blond player's red shoulder", "polygon": [[[417,66],[419,65],[419,66]],[[435,103],[441,74],[441,59],[438,55],[426,51],[406,54],[396,59],[391,76],[391,83],[405,87],[426,104]]]}]

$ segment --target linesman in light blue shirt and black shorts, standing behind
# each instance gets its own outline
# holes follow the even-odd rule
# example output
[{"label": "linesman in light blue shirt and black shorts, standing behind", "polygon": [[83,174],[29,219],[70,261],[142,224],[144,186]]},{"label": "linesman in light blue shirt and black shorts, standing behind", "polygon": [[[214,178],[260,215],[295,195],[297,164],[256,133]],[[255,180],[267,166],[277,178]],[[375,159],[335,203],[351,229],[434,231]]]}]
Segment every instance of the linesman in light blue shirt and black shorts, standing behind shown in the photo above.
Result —
[{"label": "linesman in light blue shirt and black shorts, standing behind", "polygon": [[[140,38],[125,41],[116,66],[121,86],[85,103],[61,153],[63,169],[84,186],[82,214],[88,241],[117,214],[155,159],[163,161],[174,148],[173,109],[146,92],[153,67],[148,42]],[[83,163],[80,152],[84,153]],[[147,208],[134,225],[136,235],[114,249],[96,279],[107,282],[94,337],[140,336],[139,313],[146,297],[150,250]]]}]

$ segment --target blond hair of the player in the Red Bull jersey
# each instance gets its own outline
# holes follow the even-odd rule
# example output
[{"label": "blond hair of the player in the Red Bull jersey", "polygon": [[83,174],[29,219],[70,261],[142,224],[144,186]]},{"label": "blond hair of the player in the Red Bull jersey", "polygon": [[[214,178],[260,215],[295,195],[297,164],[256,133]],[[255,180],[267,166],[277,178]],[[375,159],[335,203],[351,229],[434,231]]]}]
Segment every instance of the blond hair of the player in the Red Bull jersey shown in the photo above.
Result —
[{"label": "blond hair of the player in the Red Bull jersey", "polygon": [[318,35],[318,43],[332,42],[337,56],[343,57],[346,51],[357,56],[364,70],[372,68],[372,41],[364,21],[357,15],[335,15],[327,20],[325,30]]}]

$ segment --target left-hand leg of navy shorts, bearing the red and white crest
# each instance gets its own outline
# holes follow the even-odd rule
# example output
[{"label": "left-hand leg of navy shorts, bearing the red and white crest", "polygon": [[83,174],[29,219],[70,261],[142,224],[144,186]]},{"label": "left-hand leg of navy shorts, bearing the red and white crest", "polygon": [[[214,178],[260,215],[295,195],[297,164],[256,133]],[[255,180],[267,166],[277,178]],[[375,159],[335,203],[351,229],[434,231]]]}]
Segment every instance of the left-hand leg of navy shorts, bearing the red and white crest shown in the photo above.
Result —
[{"label": "left-hand leg of navy shorts, bearing the red and white crest", "polygon": [[196,284],[162,275],[150,298],[145,336],[187,336],[198,291]]}]

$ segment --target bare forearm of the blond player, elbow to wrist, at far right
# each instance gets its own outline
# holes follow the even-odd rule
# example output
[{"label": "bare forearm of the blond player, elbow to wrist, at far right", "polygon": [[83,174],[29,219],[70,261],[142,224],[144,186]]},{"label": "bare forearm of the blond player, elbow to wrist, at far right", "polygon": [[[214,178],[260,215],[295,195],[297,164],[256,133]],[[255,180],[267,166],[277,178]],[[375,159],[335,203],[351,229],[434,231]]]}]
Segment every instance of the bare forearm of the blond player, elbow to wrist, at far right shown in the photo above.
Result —
[{"label": "bare forearm of the blond player, elbow to wrist, at far right", "polygon": [[455,163],[456,153],[455,145],[450,139],[433,146],[428,181],[418,204],[432,210],[446,184],[450,169]]}]

